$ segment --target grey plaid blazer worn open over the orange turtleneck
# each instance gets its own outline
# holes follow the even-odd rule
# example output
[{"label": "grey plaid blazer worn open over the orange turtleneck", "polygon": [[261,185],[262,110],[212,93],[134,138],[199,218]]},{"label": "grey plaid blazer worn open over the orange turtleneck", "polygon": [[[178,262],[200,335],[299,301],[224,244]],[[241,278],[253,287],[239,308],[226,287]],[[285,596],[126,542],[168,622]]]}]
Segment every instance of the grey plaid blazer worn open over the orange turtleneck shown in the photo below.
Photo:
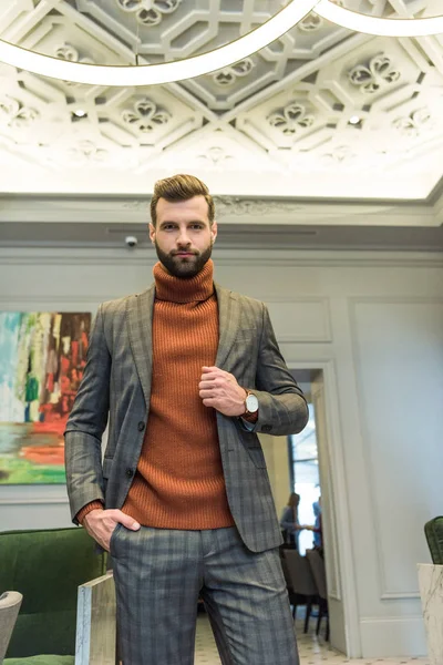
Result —
[{"label": "grey plaid blazer worn open over the orange turtleneck", "polygon": [[[256,432],[299,432],[308,409],[279,351],[266,306],[215,288],[220,330],[215,365],[233,374],[259,401],[253,431],[238,418],[218,412],[217,426],[233,518],[246,546],[260,552],[279,545],[281,534]],[[150,413],[154,297],[153,285],[142,294],[102,304],[94,319],[84,377],[65,431],[74,522],[80,509],[93,500],[122,508],[136,471]]]}]

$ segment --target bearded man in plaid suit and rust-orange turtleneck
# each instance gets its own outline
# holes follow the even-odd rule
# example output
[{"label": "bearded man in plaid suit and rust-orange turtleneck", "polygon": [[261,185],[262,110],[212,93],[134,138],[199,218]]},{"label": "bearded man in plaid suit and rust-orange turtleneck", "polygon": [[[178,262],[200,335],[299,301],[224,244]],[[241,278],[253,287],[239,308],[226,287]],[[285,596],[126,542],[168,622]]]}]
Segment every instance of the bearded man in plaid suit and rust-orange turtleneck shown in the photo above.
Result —
[{"label": "bearded man in plaid suit and rust-orange turtleneck", "polygon": [[100,306],[68,422],[72,516],[111,552],[124,665],[192,665],[199,594],[224,665],[297,665],[257,432],[306,401],[266,307],[213,282],[206,185],[157,182],[151,216],[155,284]]}]

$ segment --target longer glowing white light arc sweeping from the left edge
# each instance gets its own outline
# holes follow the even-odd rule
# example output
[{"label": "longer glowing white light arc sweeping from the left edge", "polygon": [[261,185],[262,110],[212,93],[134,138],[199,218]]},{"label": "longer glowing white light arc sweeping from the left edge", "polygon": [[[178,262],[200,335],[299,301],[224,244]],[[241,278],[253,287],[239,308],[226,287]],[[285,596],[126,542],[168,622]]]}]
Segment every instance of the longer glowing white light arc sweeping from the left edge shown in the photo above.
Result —
[{"label": "longer glowing white light arc sweeping from the left edge", "polygon": [[101,65],[71,62],[0,40],[0,61],[51,79],[90,85],[157,85],[202,76],[264,49],[301,21],[320,0],[292,0],[266,23],[214,51],[161,64]]}]

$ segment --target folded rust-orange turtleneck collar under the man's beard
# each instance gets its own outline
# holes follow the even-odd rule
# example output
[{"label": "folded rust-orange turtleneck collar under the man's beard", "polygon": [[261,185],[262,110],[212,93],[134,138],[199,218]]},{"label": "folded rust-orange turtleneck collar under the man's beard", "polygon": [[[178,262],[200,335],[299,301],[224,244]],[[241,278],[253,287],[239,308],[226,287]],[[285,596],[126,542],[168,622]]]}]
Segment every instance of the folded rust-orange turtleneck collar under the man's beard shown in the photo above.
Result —
[{"label": "folded rust-orange turtleneck collar under the man's beard", "polygon": [[153,273],[155,297],[158,300],[195,303],[207,300],[214,294],[214,263],[212,258],[195,277],[189,279],[169,275],[159,262],[155,264]]}]

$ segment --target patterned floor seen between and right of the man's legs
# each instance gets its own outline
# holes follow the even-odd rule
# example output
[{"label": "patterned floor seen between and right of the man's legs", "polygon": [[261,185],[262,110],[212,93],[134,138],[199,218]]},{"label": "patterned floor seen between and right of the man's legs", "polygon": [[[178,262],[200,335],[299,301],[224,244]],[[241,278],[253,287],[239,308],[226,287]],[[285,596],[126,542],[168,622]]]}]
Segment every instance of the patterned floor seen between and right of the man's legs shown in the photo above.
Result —
[{"label": "patterned floor seen between and right of the man's legs", "polygon": [[[324,640],[321,637],[317,638],[313,633],[303,635],[298,625],[297,637],[301,661],[300,665],[429,665],[426,658],[348,659],[342,654],[330,649]],[[209,621],[205,614],[198,615],[195,665],[220,665]]]}]

